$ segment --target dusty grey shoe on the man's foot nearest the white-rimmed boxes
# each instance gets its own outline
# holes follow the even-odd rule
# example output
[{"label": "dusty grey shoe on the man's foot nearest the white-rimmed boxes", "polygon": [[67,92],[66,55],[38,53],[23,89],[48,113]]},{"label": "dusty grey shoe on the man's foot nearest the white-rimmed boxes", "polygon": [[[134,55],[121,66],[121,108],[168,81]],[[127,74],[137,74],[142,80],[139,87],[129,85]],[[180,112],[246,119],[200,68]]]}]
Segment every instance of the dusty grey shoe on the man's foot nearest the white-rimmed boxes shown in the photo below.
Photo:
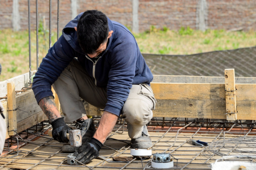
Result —
[{"label": "dusty grey shoe on the man's foot nearest the white-rimmed boxes", "polygon": [[132,147],[137,149],[147,149],[152,146],[151,138],[148,134],[147,126],[143,126],[141,137],[137,139],[132,139]]}]

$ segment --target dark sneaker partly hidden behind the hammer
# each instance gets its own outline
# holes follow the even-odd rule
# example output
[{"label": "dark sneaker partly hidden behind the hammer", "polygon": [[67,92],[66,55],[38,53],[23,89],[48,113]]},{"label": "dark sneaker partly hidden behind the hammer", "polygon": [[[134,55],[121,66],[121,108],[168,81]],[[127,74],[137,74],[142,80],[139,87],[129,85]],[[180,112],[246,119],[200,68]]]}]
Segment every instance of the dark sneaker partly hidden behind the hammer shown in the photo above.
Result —
[{"label": "dark sneaker partly hidden behind the hammer", "polygon": [[[75,126],[76,126],[76,129],[81,130],[82,143],[89,142],[91,140],[91,137],[93,137],[96,131],[96,128],[93,124],[93,119],[90,116],[88,116],[88,119],[86,120],[81,119],[80,121],[77,121]],[[62,152],[73,153],[73,152],[76,152],[78,148],[79,147],[63,145]]]}]

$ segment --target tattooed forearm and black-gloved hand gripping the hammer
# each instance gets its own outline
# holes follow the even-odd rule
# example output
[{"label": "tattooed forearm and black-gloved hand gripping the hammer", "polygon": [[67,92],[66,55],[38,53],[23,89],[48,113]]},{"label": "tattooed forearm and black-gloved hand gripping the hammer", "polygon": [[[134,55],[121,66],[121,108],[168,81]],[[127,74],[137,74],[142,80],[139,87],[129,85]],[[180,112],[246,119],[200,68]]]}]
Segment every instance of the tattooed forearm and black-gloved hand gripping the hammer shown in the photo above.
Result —
[{"label": "tattooed forearm and black-gloved hand gripping the hammer", "polygon": [[67,133],[71,130],[56,108],[54,97],[48,96],[39,101],[39,106],[52,124],[52,137],[61,143],[69,143]]}]

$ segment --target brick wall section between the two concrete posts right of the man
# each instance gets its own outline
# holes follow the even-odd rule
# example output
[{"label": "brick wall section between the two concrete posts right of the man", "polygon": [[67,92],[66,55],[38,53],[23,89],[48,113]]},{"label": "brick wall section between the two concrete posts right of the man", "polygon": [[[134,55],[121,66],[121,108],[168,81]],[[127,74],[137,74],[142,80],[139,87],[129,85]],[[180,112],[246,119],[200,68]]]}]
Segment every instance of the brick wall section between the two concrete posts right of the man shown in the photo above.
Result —
[{"label": "brick wall section between the two concrete posts right of the man", "polygon": [[139,30],[150,25],[179,29],[196,28],[197,0],[139,0]]}]

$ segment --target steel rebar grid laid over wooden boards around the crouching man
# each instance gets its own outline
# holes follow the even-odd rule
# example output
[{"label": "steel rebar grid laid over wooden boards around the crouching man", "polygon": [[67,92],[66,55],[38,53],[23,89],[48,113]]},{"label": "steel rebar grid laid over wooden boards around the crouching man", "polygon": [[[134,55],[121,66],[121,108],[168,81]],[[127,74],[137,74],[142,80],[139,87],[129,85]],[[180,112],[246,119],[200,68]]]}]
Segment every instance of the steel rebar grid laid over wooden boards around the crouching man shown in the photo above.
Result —
[{"label": "steel rebar grid laid over wooden boards around the crouching man", "polygon": [[[97,119],[97,118],[96,118]],[[95,119],[95,120],[96,120]],[[195,119],[196,120],[196,119]],[[245,130],[243,128],[238,129],[237,127],[241,125],[233,124],[228,130],[225,130],[225,124],[222,124],[221,128],[211,128],[208,129],[209,132],[205,131],[204,123],[202,123],[196,130],[189,131],[186,128],[190,128],[191,125],[195,123],[195,120],[191,121],[190,123],[186,123],[183,127],[174,127],[176,125],[180,125],[180,122],[173,124],[170,127],[161,127],[163,129],[162,132],[153,132],[154,130],[150,130],[149,132],[152,137],[152,153],[169,153],[178,159],[178,164],[176,166],[176,161],[174,161],[174,167],[172,169],[210,169],[210,163],[213,163],[216,159],[221,158],[216,151],[212,152],[210,149],[214,143],[217,141],[226,141],[226,140],[236,140],[239,137],[243,137],[247,139],[248,142],[246,145],[243,143],[236,144],[234,146],[225,144],[225,146],[220,146],[217,148],[217,151],[222,153],[223,155],[241,155],[243,152],[240,150],[244,150],[246,155],[254,154],[254,136],[251,135],[253,132],[254,125],[249,129]],[[94,159],[87,165],[79,165],[73,166],[67,164],[67,154],[61,152],[61,146],[63,143],[58,143],[56,141],[52,141],[49,139],[47,134],[44,134],[47,130],[51,128],[50,124],[44,122],[42,124],[36,125],[35,132],[30,132],[28,130],[23,131],[19,135],[36,135],[34,138],[41,136],[36,141],[27,141],[25,139],[19,139],[19,149],[6,147],[5,150],[10,150],[2,157],[0,157],[0,164],[4,164],[0,166],[0,169],[4,167],[14,167],[14,166],[24,166],[25,169],[33,169],[36,166],[44,168],[54,168],[58,169],[59,167],[62,168],[70,168],[70,167],[87,167],[89,169],[94,168],[110,168],[110,169],[154,169],[150,166],[151,159],[140,161],[139,159],[132,159],[132,161],[128,162],[117,162],[112,161],[111,158],[115,156],[128,156],[130,155],[130,138],[127,134],[127,127],[123,121],[119,121],[121,125],[116,125],[113,132],[110,134],[106,143],[100,150],[99,159],[102,161],[98,161],[98,159]],[[95,123],[96,124],[96,123]],[[72,124],[70,124],[72,125]],[[97,125],[97,124],[96,124]],[[38,127],[44,129],[41,133],[37,132]],[[153,127],[148,127],[148,129]],[[156,127],[157,128],[157,127]],[[174,130],[176,128],[176,130]],[[236,134],[232,134],[234,130],[240,131],[240,133],[236,132]],[[210,133],[210,130],[215,130],[215,133]],[[206,141],[209,143],[208,146],[195,146],[192,145],[189,140],[190,139],[200,139],[201,141]],[[10,140],[10,139],[9,139]],[[12,141],[17,141],[16,137],[11,138]],[[47,140],[47,141],[43,141]],[[251,143],[251,145],[250,145]],[[25,146],[27,145],[27,146]],[[35,145],[35,148],[32,146]],[[23,146],[21,148],[21,146]],[[44,150],[44,148],[52,148],[49,152],[48,150]],[[237,151],[237,148],[240,150]],[[29,149],[29,150],[28,150]],[[236,150],[235,150],[236,149]],[[18,156],[11,157],[10,154],[15,153],[15,151],[19,150]],[[34,157],[31,157],[34,156]],[[11,161],[10,161],[11,160]],[[28,162],[27,160],[30,160]],[[37,162],[35,162],[37,160]],[[243,161],[253,161],[250,159],[242,159]],[[34,161],[34,162],[31,162]],[[143,163],[143,166],[141,165]]]}]

